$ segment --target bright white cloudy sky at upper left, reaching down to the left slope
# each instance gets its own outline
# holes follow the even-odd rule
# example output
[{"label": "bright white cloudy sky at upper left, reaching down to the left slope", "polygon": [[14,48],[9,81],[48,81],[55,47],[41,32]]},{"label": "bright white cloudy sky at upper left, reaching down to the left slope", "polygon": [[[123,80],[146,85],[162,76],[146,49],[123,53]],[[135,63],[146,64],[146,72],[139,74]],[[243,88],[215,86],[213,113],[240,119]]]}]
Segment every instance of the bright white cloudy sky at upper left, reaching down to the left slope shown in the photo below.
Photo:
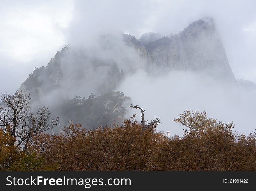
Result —
[{"label": "bright white cloudy sky at upper left, reaching down to the left slope", "polygon": [[0,93],[15,92],[33,71],[68,44],[73,1],[2,1]]}]

